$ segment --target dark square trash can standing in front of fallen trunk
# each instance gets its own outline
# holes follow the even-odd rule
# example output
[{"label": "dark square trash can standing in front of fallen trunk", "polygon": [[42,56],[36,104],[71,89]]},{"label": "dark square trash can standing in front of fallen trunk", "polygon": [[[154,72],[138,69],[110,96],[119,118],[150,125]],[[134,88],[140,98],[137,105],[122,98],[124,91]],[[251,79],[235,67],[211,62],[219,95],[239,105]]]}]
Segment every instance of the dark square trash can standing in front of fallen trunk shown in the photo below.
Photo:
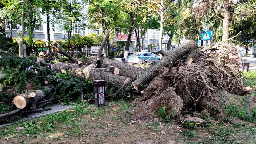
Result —
[{"label": "dark square trash can standing in front of fallen trunk", "polygon": [[94,104],[97,107],[105,106],[105,80],[93,81]]}]

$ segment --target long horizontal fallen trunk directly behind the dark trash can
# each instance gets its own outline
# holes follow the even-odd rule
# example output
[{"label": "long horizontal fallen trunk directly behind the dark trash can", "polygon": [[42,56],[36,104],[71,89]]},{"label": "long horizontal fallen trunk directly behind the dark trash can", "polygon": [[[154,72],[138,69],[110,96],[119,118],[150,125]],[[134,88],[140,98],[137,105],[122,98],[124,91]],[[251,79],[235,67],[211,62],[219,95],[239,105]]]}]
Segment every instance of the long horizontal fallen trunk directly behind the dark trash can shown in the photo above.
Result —
[{"label": "long horizontal fallen trunk directly behind the dark trash can", "polygon": [[[89,80],[105,80],[106,86],[119,87],[126,84],[130,78],[125,76],[118,76],[117,70],[113,70],[113,67],[107,68],[95,68],[93,65],[79,66],[78,64],[68,64],[68,63],[55,63],[52,66],[52,70],[72,70],[72,75],[75,78],[84,77]],[[116,74],[113,74],[113,71]]]}]

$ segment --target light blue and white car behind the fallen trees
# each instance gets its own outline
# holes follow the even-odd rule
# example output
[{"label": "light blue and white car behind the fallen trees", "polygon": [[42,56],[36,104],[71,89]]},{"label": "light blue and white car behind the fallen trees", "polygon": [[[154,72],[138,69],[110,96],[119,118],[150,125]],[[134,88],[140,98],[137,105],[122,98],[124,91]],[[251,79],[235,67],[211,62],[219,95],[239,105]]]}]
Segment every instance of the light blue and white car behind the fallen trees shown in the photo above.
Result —
[{"label": "light blue and white car behind the fallen trees", "polygon": [[152,63],[153,61],[160,60],[159,56],[156,56],[150,52],[137,52],[130,56],[128,56],[128,63],[141,63],[145,61],[145,63]]}]

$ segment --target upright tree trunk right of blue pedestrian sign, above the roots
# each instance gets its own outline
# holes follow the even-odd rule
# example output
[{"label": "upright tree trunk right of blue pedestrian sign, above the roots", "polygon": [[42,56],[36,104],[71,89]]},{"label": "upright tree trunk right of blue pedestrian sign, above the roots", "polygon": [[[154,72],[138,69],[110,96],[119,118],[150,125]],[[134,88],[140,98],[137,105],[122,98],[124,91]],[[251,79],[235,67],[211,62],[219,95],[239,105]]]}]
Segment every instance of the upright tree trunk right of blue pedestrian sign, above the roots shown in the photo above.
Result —
[{"label": "upright tree trunk right of blue pedestrian sign, above the roots", "polygon": [[[222,41],[229,38],[229,0],[224,0],[223,4],[223,23],[222,23]],[[226,44],[229,44],[229,41],[225,41]]]}]

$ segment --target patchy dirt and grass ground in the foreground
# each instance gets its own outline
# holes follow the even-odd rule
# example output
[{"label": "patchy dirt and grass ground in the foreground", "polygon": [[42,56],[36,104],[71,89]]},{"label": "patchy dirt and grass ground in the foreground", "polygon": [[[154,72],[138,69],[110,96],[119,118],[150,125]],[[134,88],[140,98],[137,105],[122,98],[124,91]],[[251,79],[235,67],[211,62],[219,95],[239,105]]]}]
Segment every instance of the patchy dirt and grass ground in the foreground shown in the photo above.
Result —
[{"label": "patchy dirt and grass ground in the foreground", "polygon": [[[86,111],[74,107],[60,112],[58,117],[48,115],[46,118],[0,129],[0,143],[200,144],[255,143],[256,140],[256,125],[242,120],[233,120],[232,124],[222,121],[218,125],[208,124],[187,129],[174,119],[170,123],[163,122],[160,118],[150,117],[133,121],[130,119],[132,106],[134,105],[131,102],[117,101],[107,103],[102,108],[90,105],[84,109]],[[84,113],[81,117],[70,117],[76,112]],[[54,119],[53,125],[47,125],[47,121],[52,123]],[[16,129],[21,126],[24,129]],[[29,127],[35,128],[29,129]],[[50,127],[52,132],[49,133],[47,131]]]}]

